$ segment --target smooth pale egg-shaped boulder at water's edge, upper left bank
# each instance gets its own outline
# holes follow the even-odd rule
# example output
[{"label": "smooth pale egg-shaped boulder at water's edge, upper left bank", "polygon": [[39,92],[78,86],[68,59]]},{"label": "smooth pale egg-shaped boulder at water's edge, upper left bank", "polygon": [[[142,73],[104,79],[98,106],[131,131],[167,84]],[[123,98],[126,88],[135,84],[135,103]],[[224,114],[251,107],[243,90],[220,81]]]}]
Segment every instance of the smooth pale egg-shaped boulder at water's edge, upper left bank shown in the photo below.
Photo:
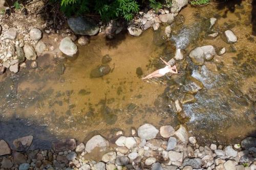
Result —
[{"label": "smooth pale egg-shaped boulder at water's edge, upper left bank", "polygon": [[77,46],[70,37],[65,37],[60,41],[59,50],[68,56],[72,56],[77,53]]}]

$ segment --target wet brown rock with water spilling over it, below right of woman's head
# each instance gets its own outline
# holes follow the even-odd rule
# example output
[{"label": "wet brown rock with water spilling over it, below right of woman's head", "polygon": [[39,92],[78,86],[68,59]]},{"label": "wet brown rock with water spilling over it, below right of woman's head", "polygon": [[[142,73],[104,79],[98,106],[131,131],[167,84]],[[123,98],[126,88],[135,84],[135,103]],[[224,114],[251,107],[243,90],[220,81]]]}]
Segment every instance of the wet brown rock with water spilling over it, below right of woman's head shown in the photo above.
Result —
[{"label": "wet brown rock with water spilling over it, below right of woman's head", "polygon": [[185,82],[185,90],[187,93],[195,94],[204,87],[203,83],[193,77],[187,77]]}]

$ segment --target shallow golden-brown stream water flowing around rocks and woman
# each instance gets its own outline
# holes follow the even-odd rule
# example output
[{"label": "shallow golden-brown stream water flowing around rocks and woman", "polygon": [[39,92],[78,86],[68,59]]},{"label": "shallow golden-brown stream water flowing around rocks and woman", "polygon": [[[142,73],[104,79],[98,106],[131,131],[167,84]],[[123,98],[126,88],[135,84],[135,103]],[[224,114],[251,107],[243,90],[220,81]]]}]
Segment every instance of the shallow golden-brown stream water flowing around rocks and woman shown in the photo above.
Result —
[{"label": "shallow golden-brown stream water flowing around rocks and woman", "polygon": [[[158,128],[186,124],[200,142],[235,143],[245,136],[255,136],[252,6],[243,1],[234,11],[228,6],[217,7],[184,8],[167,42],[163,41],[161,28],[156,32],[147,30],[138,38],[121,33],[106,40],[99,35],[91,37],[89,45],[79,46],[78,56],[62,61],[45,54],[38,57],[37,69],[2,75],[0,138],[12,143],[17,137],[33,135],[34,148],[49,148],[57,138],[86,141],[98,133],[111,138],[119,129],[130,135],[131,127],[144,123]],[[223,35],[208,38],[211,31],[205,21],[210,17],[218,19],[215,31],[221,34],[231,29],[238,42],[225,43]],[[227,52],[196,66],[187,56],[202,45],[214,45],[217,51],[225,47]],[[174,57],[176,47],[182,48],[186,56],[177,63],[180,74],[141,80],[141,70],[146,75],[163,67],[158,58]],[[110,74],[91,78],[91,70],[102,64],[106,54],[112,58],[108,63]],[[194,94],[195,103],[183,105],[183,113],[177,114],[174,101],[183,98],[191,77],[201,81],[204,88]]]}]

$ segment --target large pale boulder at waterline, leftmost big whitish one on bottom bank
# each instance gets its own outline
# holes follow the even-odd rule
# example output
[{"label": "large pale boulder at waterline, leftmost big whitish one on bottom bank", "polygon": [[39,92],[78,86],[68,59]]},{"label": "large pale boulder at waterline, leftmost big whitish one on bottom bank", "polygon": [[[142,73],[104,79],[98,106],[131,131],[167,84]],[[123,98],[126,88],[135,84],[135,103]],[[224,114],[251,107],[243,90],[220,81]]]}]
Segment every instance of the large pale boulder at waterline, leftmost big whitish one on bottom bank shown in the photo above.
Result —
[{"label": "large pale boulder at waterline, leftmost big whitish one on bottom bank", "polygon": [[87,143],[86,143],[86,152],[91,153],[94,149],[99,148],[100,152],[105,151],[108,149],[110,143],[108,140],[104,139],[100,135],[93,136]]}]

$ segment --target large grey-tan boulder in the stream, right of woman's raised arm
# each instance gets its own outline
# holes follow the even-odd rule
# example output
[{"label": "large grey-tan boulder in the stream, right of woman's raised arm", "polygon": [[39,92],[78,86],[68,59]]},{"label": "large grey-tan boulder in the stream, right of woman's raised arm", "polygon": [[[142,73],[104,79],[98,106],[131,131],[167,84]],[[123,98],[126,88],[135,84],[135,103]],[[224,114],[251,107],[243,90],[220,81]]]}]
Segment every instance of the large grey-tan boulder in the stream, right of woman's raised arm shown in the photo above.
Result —
[{"label": "large grey-tan boulder in the stream, right of woman's raised arm", "polygon": [[203,65],[204,61],[209,61],[216,55],[215,48],[212,45],[196,47],[189,53],[189,57],[196,65]]}]

